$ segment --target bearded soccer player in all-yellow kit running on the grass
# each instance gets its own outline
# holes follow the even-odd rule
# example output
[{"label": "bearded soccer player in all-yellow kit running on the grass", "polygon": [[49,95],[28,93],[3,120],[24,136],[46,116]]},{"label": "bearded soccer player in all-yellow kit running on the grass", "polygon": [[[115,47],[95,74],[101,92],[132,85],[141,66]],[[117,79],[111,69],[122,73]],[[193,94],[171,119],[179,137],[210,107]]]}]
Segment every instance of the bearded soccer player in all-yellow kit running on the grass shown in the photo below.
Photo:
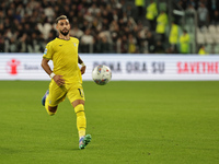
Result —
[{"label": "bearded soccer player in all-yellow kit running on the grass", "polygon": [[[43,69],[51,78],[49,90],[43,96],[42,104],[48,115],[53,116],[58,104],[68,97],[77,115],[79,149],[84,149],[91,141],[91,136],[85,136],[85,99],[81,78],[85,72],[85,65],[78,55],[79,40],[69,35],[70,24],[66,15],[56,19],[56,28],[59,36],[47,44],[42,59]],[[53,70],[48,65],[49,60],[53,60]],[[78,63],[81,65],[81,69]]]}]

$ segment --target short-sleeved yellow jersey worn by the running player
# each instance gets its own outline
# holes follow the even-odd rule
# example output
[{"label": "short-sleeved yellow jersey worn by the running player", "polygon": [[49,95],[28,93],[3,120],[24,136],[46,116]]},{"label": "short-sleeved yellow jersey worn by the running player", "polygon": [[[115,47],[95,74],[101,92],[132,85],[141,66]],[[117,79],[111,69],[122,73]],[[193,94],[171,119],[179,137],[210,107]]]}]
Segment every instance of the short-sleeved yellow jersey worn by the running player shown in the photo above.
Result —
[{"label": "short-sleeved yellow jersey worn by the running player", "polygon": [[53,60],[55,74],[62,75],[65,83],[82,83],[81,72],[78,66],[79,39],[55,38],[46,45],[43,58]]}]

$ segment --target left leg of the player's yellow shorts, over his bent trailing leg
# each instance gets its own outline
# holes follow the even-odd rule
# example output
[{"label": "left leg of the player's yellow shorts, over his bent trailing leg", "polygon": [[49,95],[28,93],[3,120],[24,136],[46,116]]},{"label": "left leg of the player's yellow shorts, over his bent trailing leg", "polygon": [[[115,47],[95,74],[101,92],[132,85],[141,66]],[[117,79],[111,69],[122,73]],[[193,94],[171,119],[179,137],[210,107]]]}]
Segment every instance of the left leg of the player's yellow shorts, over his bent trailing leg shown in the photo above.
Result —
[{"label": "left leg of the player's yellow shorts, over his bent trailing leg", "polygon": [[49,84],[48,101],[49,106],[57,106],[66,97],[66,89],[64,86],[58,86],[54,81]]}]

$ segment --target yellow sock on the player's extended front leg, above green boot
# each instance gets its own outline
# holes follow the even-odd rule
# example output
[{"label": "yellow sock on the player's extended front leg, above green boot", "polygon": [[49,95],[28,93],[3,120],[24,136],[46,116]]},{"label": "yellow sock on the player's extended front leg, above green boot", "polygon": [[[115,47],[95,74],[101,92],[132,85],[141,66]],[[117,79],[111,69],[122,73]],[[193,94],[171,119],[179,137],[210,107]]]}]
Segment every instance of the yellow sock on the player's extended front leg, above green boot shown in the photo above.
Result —
[{"label": "yellow sock on the player's extended front leg, above green boot", "polygon": [[85,128],[87,128],[87,119],[84,114],[84,106],[79,104],[74,107],[74,112],[77,115],[77,128],[79,132],[79,138],[85,136]]}]

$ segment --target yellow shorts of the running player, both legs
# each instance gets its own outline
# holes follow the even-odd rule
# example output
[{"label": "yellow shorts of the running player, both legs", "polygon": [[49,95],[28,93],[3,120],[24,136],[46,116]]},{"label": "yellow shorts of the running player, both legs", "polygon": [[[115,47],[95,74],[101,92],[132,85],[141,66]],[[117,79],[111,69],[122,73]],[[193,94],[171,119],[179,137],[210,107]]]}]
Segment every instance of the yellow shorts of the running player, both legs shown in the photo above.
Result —
[{"label": "yellow shorts of the running player, both legs", "polygon": [[58,86],[54,80],[49,84],[49,94],[48,94],[48,105],[54,107],[57,106],[60,102],[65,101],[66,96],[70,103],[77,99],[85,101],[83,87],[80,83],[67,83],[62,86]]}]

